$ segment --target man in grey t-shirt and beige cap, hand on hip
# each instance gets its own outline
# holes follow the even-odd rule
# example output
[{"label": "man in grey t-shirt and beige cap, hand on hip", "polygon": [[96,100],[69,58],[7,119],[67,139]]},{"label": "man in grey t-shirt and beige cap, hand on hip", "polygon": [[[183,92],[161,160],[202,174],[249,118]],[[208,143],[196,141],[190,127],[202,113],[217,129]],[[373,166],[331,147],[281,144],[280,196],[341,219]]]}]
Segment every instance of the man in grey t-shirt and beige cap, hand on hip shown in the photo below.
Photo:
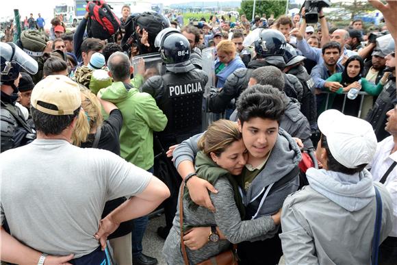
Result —
[{"label": "man in grey t-shirt and beige cap, hand on hip", "polygon": [[[105,238],[118,224],[153,211],[168,188],[141,168],[98,149],[74,147],[79,86],[62,75],[40,81],[31,94],[38,137],[1,153],[1,260],[50,264],[86,257],[101,263]],[[19,166],[19,161],[24,166]],[[131,197],[103,220],[106,201]],[[7,218],[10,234],[3,229]],[[95,236],[94,236],[95,235]]]}]

